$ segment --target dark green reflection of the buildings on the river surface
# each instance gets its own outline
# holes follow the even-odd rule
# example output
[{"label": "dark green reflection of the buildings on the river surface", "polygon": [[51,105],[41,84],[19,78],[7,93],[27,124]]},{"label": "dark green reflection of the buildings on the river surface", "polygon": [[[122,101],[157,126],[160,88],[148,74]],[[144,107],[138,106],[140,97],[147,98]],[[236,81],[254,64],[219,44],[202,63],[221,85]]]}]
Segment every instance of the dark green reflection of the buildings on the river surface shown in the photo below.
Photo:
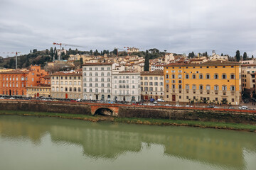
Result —
[{"label": "dark green reflection of the buildings on the river surface", "polygon": [[244,152],[256,153],[256,135],[250,132],[0,116],[1,138],[41,145],[46,134],[55,144],[82,146],[92,159],[114,160],[126,152],[141,152],[142,145],[161,145],[163,157],[246,169]]}]

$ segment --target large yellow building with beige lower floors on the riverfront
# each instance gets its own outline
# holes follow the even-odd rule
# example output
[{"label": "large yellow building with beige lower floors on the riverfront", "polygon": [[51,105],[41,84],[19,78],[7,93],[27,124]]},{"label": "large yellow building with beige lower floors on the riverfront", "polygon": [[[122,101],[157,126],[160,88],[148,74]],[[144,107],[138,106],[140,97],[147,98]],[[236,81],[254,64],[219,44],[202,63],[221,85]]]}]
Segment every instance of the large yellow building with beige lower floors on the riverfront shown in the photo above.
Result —
[{"label": "large yellow building with beige lower floors on the riverfront", "polygon": [[209,61],[203,64],[166,64],[166,101],[201,101],[239,105],[241,64]]}]

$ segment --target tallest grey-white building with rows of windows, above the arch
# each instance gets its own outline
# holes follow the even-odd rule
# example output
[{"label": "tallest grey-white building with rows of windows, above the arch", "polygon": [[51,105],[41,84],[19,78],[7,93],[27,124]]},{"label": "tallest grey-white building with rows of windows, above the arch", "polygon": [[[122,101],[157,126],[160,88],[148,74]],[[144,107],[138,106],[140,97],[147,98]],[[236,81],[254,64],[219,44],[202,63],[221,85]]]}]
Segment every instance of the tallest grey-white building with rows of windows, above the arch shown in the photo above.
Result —
[{"label": "tallest grey-white building with rows of windows, above the arch", "polygon": [[112,63],[82,65],[82,98],[110,101],[112,96]]}]

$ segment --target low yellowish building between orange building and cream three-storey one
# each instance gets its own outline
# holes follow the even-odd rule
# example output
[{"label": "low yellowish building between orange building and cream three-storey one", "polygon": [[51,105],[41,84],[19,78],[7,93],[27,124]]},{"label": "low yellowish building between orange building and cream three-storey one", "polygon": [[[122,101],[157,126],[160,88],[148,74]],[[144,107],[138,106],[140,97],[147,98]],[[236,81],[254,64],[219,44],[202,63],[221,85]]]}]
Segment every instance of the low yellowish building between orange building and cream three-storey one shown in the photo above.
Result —
[{"label": "low yellowish building between orange building and cream three-storey one", "polygon": [[37,97],[50,97],[50,85],[41,84],[40,86],[27,86],[26,96],[37,98]]}]

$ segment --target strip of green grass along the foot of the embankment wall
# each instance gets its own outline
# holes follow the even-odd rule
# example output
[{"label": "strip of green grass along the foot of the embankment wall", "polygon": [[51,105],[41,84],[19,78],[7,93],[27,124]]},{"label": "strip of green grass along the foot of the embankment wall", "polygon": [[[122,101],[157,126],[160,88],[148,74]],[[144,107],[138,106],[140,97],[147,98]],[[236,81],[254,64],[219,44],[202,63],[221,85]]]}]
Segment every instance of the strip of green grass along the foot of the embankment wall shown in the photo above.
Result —
[{"label": "strip of green grass along the foot of the embankment wall", "polygon": [[176,125],[191,126],[199,128],[215,128],[226,130],[245,130],[256,132],[256,125],[245,125],[241,123],[215,123],[202,122],[194,120],[169,120],[169,119],[151,119],[151,118],[114,118],[102,115],[83,115],[83,114],[67,114],[67,113],[48,113],[48,112],[32,112],[32,111],[0,111],[0,115],[23,115],[37,117],[56,117],[66,119],[89,120],[92,122],[112,121],[114,123],[132,123],[141,125]]}]

